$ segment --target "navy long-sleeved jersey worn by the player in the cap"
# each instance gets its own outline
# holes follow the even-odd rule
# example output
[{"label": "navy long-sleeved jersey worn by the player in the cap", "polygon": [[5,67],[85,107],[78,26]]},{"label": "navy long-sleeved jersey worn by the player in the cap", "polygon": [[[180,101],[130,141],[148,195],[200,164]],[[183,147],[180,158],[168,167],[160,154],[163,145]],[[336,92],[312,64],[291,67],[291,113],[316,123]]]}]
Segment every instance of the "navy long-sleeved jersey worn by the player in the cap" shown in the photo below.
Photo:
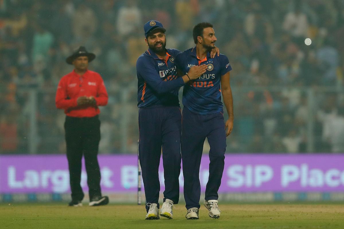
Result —
[{"label": "navy long-sleeved jersey worn by the player in the cap", "polygon": [[149,48],[137,59],[138,107],[179,106],[178,91],[184,81],[176,73],[174,60],[178,53],[177,49],[166,49],[163,60]]}]

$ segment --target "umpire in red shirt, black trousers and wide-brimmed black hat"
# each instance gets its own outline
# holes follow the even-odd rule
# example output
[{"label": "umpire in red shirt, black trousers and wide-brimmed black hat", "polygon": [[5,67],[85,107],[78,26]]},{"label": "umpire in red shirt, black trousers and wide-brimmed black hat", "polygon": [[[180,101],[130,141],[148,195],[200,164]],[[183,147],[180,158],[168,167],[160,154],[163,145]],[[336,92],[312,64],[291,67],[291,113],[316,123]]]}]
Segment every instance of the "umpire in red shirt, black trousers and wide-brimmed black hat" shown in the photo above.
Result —
[{"label": "umpire in red shirt, black trousers and wide-brimmed black hat", "polygon": [[85,157],[89,206],[109,203],[107,196],[101,196],[100,169],[97,159],[100,141],[100,113],[98,106],[105,106],[108,94],[101,76],[87,69],[88,63],[95,59],[93,53],[80,46],[66,59],[74,70],[60,80],[57,87],[55,104],[66,114],[65,139],[72,201],[69,206],[82,206],[84,192],[80,186],[81,159]]}]

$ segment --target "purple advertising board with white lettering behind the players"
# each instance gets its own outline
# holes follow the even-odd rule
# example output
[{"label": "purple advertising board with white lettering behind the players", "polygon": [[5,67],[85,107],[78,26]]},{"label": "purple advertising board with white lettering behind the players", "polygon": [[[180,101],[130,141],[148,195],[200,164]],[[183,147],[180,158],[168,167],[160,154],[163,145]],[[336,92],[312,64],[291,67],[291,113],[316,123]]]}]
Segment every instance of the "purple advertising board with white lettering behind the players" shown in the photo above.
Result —
[{"label": "purple advertising board with white lettering behind the players", "polygon": [[[99,155],[103,192],[137,191],[136,155]],[[343,192],[344,155],[226,154],[219,192]],[[209,157],[202,157],[205,191]],[[164,190],[162,163],[159,167]],[[183,174],[179,177],[183,191]],[[87,191],[83,162],[81,185]],[[0,193],[70,192],[65,155],[0,156]]]}]

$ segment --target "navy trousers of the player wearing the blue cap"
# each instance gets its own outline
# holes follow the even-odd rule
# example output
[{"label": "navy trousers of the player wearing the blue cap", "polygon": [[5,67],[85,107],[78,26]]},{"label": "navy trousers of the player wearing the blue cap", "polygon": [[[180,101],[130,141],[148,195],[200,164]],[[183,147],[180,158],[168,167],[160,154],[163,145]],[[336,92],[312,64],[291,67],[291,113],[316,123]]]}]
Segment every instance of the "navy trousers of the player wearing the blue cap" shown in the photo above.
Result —
[{"label": "navy trousers of the player wearing the blue cap", "polygon": [[[147,203],[159,208],[159,163],[162,148],[164,200],[179,201],[181,110],[178,106],[139,108],[139,158]],[[146,206],[147,212],[149,207]]]}]

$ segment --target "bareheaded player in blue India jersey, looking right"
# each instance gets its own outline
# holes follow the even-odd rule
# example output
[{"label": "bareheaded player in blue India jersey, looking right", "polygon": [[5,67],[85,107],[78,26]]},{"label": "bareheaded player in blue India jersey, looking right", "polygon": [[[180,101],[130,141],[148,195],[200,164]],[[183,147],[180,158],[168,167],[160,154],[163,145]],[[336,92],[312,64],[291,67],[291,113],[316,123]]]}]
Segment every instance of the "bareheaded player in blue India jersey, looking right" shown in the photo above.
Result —
[{"label": "bareheaded player in blue India jersey, looking right", "polygon": [[[193,38],[196,47],[183,51],[175,59],[181,75],[188,75],[193,66],[207,66],[207,71],[198,79],[185,84],[183,90],[181,148],[187,209],[185,217],[198,219],[201,195],[199,173],[203,144],[207,138],[210,145],[210,164],[204,206],[210,217],[219,218],[221,211],[218,208],[217,191],[225,163],[226,136],[232,131],[234,120],[229,83],[229,71],[232,67],[225,55],[220,54],[214,58],[210,55],[216,42],[212,24],[197,24],[193,29]],[[229,116],[226,122],[221,94]]]}]

